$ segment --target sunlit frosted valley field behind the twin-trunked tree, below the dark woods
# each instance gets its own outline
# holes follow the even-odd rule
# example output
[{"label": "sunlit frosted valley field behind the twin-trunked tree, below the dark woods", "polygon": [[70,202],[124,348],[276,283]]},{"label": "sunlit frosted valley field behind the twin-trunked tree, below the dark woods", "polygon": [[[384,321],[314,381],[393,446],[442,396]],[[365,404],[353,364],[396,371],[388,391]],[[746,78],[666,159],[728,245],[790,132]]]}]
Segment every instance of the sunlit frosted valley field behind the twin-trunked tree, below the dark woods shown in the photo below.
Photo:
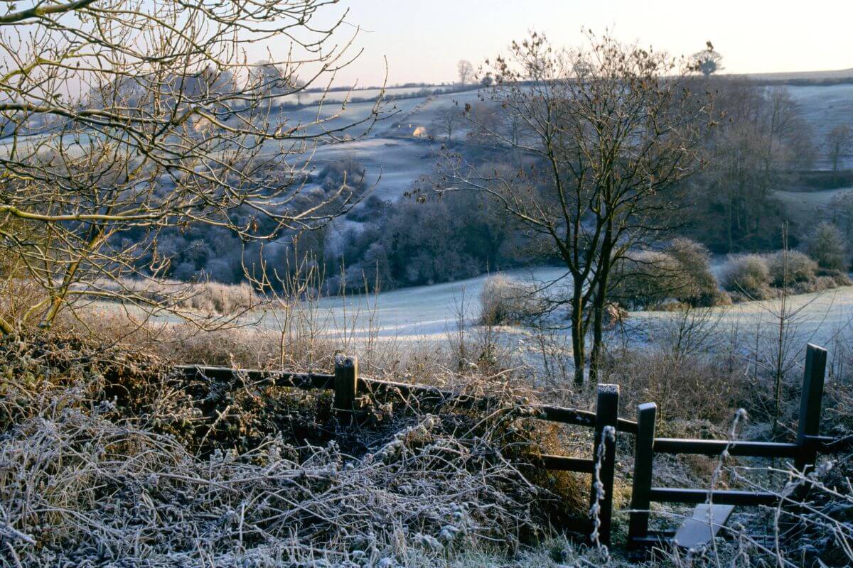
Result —
[{"label": "sunlit frosted valley field behind the twin-trunked tree, below the dark woods", "polygon": [[[714,267],[718,270],[719,263]],[[566,271],[559,267],[540,267],[505,273],[520,281],[547,284],[563,278],[552,289],[566,284]],[[395,341],[444,341],[459,329],[477,325],[480,294],[488,276],[459,282],[392,290],[375,295],[351,295],[327,298],[318,304],[316,321],[325,333],[346,335],[354,340],[368,337]],[[748,301],[729,307],[711,308],[705,326],[717,338],[741,337],[741,341],[769,341],[778,334],[779,300]],[[853,286],[814,294],[794,295],[786,303],[788,341],[829,345],[853,331]],[[619,340],[635,346],[669,341],[678,313],[663,311],[632,312],[624,326],[614,333]],[[258,325],[275,327],[275,318],[261,318]],[[560,324],[559,315],[554,324]],[[567,323],[567,322],[566,322]],[[624,336],[621,333],[624,331]],[[508,339],[524,341],[531,330],[523,326],[502,327]],[[563,331],[568,334],[568,330]]]}]

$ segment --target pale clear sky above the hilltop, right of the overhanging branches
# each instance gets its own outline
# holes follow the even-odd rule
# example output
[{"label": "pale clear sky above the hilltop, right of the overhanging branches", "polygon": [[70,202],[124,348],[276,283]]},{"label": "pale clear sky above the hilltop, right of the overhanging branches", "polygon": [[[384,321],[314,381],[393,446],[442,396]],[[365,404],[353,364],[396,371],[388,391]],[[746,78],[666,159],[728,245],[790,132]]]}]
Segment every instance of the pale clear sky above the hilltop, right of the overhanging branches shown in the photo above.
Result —
[{"label": "pale clear sky above the hilltop, right of the overhanging branches", "polygon": [[460,59],[477,67],[530,30],[572,46],[585,28],[671,55],[690,55],[711,40],[728,73],[853,67],[853,0],[341,0],[319,20],[345,9],[338,41],[359,27],[354,49],[363,54],[337,84],[382,83],[386,59],[388,84],[452,82]]}]

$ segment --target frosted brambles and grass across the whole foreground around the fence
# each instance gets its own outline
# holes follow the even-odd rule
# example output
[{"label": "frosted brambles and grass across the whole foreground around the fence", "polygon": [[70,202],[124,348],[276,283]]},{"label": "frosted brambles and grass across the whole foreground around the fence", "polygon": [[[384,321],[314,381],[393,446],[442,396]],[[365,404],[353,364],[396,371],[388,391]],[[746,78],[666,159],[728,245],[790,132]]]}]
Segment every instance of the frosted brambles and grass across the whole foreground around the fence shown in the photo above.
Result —
[{"label": "frosted brambles and grass across the whole foreground around the fence", "polygon": [[[414,407],[392,396],[364,400],[367,417],[351,427],[335,420],[330,393],[260,387],[240,376],[203,380],[168,367],[188,356],[274,367],[280,363],[275,336],[244,330],[228,343],[234,334],[223,331],[176,350],[174,341],[183,343],[177,329],[154,337],[129,331],[119,319],[100,323],[89,331],[99,340],[80,339],[73,331],[78,324],[69,322],[65,331],[0,344],[0,558],[7,564],[630,564],[619,543],[630,492],[630,437],[620,437],[618,446],[616,502],[623,513],[616,518],[616,542],[609,551],[587,548],[588,478],[537,474],[526,462],[540,451],[586,455],[591,439],[583,430],[531,421],[525,404],[590,407],[590,393],[559,385],[534,392],[529,385],[546,378],[543,368],[519,366],[516,355],[490,344],[488,335],[469,335],[464,345],[438,351],[407,346],[404,367],[398,366],[403,353],[392,347],[363,363],[374,375],[497,395],[506,410],[472,414],[452,400]],[[310,357],[326,368],[334,351],[332,343],[315,346]],[[660,435],[724,438],[732,435],[735,410],[746,408],[749,420],[741,418],[735,435],[767,436],[772,399],[757,386],[768,376],[758,370],[745,382],[740,353],[717,353],[614,350],[605,370],[618,378],[625,409],[665,401]],[[307,352],[290,355],[288,364],[308,364]],[[472,355],[465,364],[458,359]],[[850,355],[834,358],[833,369],[843,374],[827,392],[823,433],[844,435],[853,426],[849,371],[841,364],[849,365]],[[786,379],[785,424],[797,416],[798,375],[794,369]],[[734,541],[687,553],[690,565],[849,562],[851,459],[836,456],[805,481],[813,489],[808,505],[793,509],[793,532],[786,512],[775,521],[772,508],[744,509],[731,524]],[[774,473],[733,458],[670,458],[656,471],[666,483],[684,486],[791,491],[803,483],[789,478],[784,465]],[[680,513],[656,509],[654,518],[667,525]],[[788,536],[775,541],[775,526],[789,527]],[[753,536],[768,530],[769,539]],[[685,561],[683,553],[661,554],[673,565]]]}]

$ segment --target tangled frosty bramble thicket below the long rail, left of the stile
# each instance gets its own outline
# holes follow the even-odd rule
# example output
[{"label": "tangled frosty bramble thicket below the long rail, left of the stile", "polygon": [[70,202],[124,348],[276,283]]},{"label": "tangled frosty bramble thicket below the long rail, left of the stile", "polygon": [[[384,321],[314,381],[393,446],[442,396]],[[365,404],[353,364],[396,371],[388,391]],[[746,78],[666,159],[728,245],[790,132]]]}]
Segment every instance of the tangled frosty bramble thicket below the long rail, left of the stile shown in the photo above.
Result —
[{"label": "tangled frosty bramble thicket below the long rail, left of the stile", "polygon": [[[585,483],[525,467],[558,436],[518,404],[484,421],[392,394],[349,427],[328,392],[176,375],[74,334],[0,352],[4,563],[434,565],[584,516]],[[484,387],[501,389],[456,385]]]}]

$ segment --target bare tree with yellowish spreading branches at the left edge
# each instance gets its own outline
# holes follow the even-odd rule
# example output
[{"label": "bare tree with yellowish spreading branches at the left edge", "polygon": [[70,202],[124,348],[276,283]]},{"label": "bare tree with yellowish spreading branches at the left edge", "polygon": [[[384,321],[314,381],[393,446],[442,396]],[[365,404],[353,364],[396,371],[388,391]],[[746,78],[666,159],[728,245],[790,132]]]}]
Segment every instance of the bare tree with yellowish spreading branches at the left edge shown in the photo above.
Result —
[{"label": "bare tree with yellowish spreading branches at the left edge", "polygon": [[[171,295],[123,284],[163,275],[166,227],[203,224],[248,244],[322,227],[354,204],[345,183],[302,196],[305,157],[355,123],[367,129],[380,108],[351,123],[340,112],[299,123],[273,104],[278,88],[299,92],[349,62],[348,43],[324,47],[345,13],[328,27],[311,23],[328,4],[9,6],[0,30],[3,294],[20,283],[36,293],[0,317],[4,334],[49,326],[81,298],[174,307]],[[247,62],[251,44],[273,38],[291,44],[285,59]]]}]

